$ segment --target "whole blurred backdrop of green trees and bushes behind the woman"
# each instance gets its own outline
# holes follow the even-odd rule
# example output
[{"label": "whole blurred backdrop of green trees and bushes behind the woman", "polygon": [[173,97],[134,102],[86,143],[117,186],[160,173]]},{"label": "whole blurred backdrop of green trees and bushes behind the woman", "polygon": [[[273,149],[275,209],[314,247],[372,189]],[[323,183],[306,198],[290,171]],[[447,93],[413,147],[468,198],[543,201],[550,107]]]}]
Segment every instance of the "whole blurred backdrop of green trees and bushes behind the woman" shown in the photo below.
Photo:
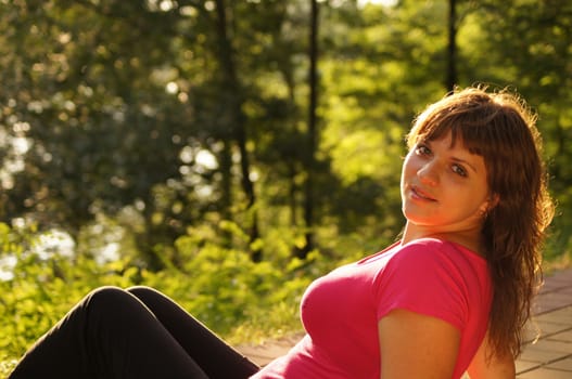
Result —
[{"label": "whole blurred backdrop of green trees and bushes behind the woman", "polygon": [[572,3],[0,0],[0,373],[91,288],[236,343],[397,237],[404,135],[455,86],[538,113],[568,265]]}]

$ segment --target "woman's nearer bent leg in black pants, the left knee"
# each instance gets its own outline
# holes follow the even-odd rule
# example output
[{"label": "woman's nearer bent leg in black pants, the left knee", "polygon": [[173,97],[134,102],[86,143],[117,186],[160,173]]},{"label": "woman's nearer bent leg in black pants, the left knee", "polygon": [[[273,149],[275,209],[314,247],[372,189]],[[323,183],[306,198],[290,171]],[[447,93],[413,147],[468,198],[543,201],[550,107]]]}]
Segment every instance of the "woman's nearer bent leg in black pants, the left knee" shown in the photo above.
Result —
[{"label": "woman's nearer bent leg in black pants, the left knee", "polygon": [[138,298],[104,287],[38,340],[9,378],[207,377]]}]

